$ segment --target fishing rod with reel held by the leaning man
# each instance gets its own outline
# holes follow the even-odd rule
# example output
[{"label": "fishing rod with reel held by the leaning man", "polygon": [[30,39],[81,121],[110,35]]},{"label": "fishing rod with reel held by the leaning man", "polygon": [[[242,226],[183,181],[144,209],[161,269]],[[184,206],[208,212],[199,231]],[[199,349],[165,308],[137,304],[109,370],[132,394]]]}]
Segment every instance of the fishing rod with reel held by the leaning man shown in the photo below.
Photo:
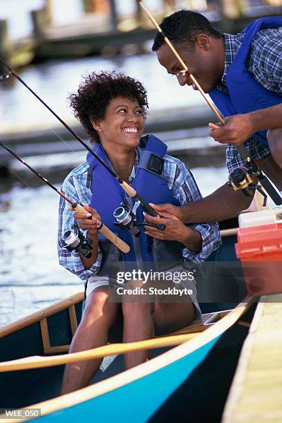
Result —
[{"label": "fishing rod with reel held by the leaning man", "polygon": [[[212,100],[209,99],[209,97],[207,96],[207,94],[205,93],[205,91],[203,91],[203,88],[200,86],[200,84],[198,83],[197,79],[194,77],[194,75],[192,75],[189,72],[189,69],[187,67],[187,65],[185,64],[185,62],[183,61],[182,57],[180,57],[180,55],[178,54],[176,48],[174,48],[173,44],[171,44],[171,41],[169,40],[169,38],[167,37],[167,35],[164,34],[164,31],[162,30],[162,28],[160,28],[160,25],[158,24],[158,22],[156,21],[156,19],[153,17],[153,15],[151,15],[151,13],[149,12],[149,10],[146,8],[146,6],[144,6],[144,3],[142,2],[142,0],[136,0],[137,3],[139,3],[139,5],[141,6],[141,8],[144,10],[144,12],[146,13],[146,15],[149,17],[150,21],[153,23],[153,26],[155,26],[155,28],[158,30],[158,32],[160,32],[160,34],[162,35],[162,37],[164,38],[164,41],[166,42],[167,46],[169,46],[169,48],[171,49],[173,55],[176,56],[176,59],[178,59],[178,62],[180,62],[180,65],[182,66],[182,71],[180,71],[180,73],[182,73],[183,76],[185,76],[187,73],[189,75],[189,77],[191,78],[192,82],[195,84],[195,86],[198,88],[198,91],[200,91],[201,95],[203,95],[205,101],[207,102],[208,106],[210,109],[212,109],[213,113],[216,115],[216,118],[218,118],[219,122],[221,124],[225,124],[225,120],[223,118],[223,115],[220,115],[220,113],[218,112],[218,110],[216,109],[216,107],[214,106],[214,104],[212,103]],[[250,165],[251,168],[251,176],[254,175],[256,176],[256,178],[259,179],[259,182],[261,182],[261,185],[263,186],[263,188],[265,189],[265,191],[267,192],[267,194],[270,196],[270,198],[272,198],[272,200],[274,201],[274,203],[276,205],[282,205],[282,198],[279,195],[279,193],[276,191],[276,189],[274,189],[274,187],[271,185],[270,181],[266,178],[266,176],[263,174],[263,172],[261,171],[261,169],[259,169],[259,167],[256,165],[256,163],[254,162],[254,160],[252,160],[252,158],[250,157],[250,152],[248,151],[247,147],[245,147],[245,145],[241,145],[236,147],[236,149],[238,150],[238,153],[242,156],[243,160],[245,160],[245,162],[247,164]],[[243,171],[242,171],[243,172]],[[237,175],[236,175],[237,176]],[[256,188],[256,186],[254,185],[254,181],[252,180],[252,178],[244,178],[244,174],[241,175],[241,180],[236,183],[235,180],[236,178],[233,177],[232,173],[230,176],[230,184],[234,189],[236,187],[237,189],[243,189],[243,193],[246,196],[250,196],[250,190],[245,189],[245,183],[247,183],[247,186],[250,185],[251,189],[258,189]],[[250,176],[250,175],[248,175]],[[242,188],[244,187],[244,188]]]}]

